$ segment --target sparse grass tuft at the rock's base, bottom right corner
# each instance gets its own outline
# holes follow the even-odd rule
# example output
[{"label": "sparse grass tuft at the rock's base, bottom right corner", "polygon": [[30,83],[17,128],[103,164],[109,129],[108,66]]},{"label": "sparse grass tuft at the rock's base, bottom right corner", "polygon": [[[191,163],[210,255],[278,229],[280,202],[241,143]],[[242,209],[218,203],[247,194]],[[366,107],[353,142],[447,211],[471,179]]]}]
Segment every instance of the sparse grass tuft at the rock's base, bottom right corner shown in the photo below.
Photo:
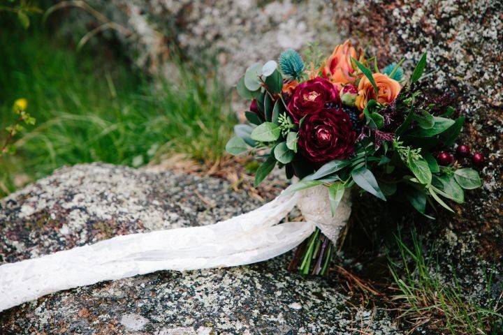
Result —
[{"label": "sparse grass tuft at the rock's base, bottom right corner", "polygon": [[[418,327],[450,334],[502,334],[502,296],[492,298],[492,278],[486,278],[485,301],[470,301],[462,295],[462,288],[453,279],[446,285],[439,275],[439,267],[428,261],[416,234],[409,248],[400,235],[396,238],[400,262],[391,261],[391,273],[400,294],[393,299],[399,304],[401,318]],[[411,332],[412,332],[411,331]],[[445,334],[445,333],[444,333]]]}]

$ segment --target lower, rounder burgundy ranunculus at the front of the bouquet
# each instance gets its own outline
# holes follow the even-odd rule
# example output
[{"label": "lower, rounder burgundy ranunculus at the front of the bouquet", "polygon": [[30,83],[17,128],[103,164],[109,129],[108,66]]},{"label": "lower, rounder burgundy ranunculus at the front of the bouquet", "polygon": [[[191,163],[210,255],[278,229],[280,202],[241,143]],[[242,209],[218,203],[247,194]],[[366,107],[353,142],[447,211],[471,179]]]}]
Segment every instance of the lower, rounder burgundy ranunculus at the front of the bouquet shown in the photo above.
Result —
[{"label": "lower, rounder burgundy ranunculus at the front of the bouquet", "polygon": [[355,141],[349,115],[333,108],[309,114],[299,129],[300,152],[313,163],[348,158],[353,154]]}]

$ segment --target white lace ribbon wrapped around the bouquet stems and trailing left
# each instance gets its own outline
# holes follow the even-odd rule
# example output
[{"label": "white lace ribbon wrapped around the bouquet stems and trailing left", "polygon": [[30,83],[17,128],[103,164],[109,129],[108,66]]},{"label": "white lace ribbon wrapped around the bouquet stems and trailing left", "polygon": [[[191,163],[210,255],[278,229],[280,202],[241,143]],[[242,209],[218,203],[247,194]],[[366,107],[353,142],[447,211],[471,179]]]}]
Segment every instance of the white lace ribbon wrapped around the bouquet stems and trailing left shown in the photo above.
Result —
[{"label": "white lace ribbon wrapped around the bouquet stems and trailing left", "polygon": [[[333,217],[327,190],[316,186],[282,193],[254,211],[214,225],[117,236],[0,265],[0,311],[60,290],[137,274],[261,262],[295,248],[316,226],[335,243],[351,203],[349,194],[344,195]],[[279,223],[296,204],[307,222]]]}]

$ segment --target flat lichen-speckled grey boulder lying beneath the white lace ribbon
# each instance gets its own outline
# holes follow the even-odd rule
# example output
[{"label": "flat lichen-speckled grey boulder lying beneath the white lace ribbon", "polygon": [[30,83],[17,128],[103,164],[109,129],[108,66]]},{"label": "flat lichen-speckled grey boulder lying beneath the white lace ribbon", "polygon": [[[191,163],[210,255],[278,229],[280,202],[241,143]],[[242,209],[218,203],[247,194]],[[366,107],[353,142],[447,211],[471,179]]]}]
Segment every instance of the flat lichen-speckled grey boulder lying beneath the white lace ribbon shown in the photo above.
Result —
[{"label": "flat lichen-speckled grey boulder lying beneath the white lace ribbon", "polygon": [[[257,207],[220,179],[113,165],[57,170],[0,202],[0,262],[115,236],[205,225]],[[379,309],[350,309],[336,276],[256,265],[160,271],[58,292],[0,314],[0,334],[400,334]]]}]

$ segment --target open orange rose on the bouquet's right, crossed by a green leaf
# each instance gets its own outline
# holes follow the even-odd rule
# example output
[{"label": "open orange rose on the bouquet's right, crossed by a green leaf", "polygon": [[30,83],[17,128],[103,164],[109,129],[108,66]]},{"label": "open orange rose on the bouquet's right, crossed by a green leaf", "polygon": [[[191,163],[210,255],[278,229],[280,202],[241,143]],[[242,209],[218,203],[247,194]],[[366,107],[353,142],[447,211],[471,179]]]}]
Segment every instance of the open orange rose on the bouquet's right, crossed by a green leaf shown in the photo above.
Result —
[{"label": "open orange rose on the bouquet's right, crossed by a green leaf", "polygon": [[358,110],[364,110],[368,101],[374,99],[378,103],[387,105],[391,103],[400,93],[402,87],[396,81],[382,73],[374,73],[374,82],[376,82],[379,92],[376,94],[374,87],[370,84],[367,77],[363,76],[358,84],[358,96],[356,96],[355,105]]}]

